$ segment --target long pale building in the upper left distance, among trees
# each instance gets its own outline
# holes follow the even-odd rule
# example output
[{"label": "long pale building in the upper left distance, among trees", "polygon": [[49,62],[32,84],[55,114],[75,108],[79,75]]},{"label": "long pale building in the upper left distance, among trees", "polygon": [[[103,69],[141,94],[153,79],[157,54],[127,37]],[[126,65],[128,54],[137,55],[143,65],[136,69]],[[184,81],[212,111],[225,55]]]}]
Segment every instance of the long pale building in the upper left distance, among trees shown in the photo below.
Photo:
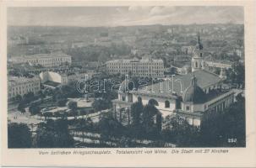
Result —
[{"label": "long pale building in the upper left distance, among trees", "polygon": [[41,65],[46,67],[61,66],[62,64],[71,64],[71,56],[65,54],[37,54],[37,55],[25,55],[19,57],[22,62],[28,62],[31,65]]}]

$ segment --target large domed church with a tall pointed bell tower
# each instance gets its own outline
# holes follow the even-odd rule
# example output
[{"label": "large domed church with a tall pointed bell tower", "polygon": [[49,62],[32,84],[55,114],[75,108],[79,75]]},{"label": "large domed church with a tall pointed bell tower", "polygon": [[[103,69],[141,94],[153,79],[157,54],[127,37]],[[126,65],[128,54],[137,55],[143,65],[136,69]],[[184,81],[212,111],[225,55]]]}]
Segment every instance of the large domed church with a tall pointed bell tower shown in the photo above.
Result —
[{"label": "large domed church with a tall pointed bell tower", "polygon": [[140,89],[128,88],[128,79],[119,87],[118,98],[113,100],[115,117],[123,124],[130,124],[133,102],[144,105],[155,102],[162,118],[179,115],[189,124],[200,126],[208,118],[229,108],[234,92],[223,87],[225,77],[205,69],[204,49],[198,39],[191,60],[192,71],[182,76],[172,76],[164,81]]}]

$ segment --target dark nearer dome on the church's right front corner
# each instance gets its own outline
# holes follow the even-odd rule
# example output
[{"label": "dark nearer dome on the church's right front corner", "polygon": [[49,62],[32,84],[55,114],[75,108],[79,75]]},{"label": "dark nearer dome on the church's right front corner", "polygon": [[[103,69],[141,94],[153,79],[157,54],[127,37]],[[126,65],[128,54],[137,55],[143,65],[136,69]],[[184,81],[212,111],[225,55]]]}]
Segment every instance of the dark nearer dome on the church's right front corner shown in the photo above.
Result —
[{"label": "dark nearer dome on the church's right front corner", "polygon": [[193,76],[190,86],[182,95],[183,102],[202,103],[205,100],[205,93],[201,87],[197,86],[197,79]]}]

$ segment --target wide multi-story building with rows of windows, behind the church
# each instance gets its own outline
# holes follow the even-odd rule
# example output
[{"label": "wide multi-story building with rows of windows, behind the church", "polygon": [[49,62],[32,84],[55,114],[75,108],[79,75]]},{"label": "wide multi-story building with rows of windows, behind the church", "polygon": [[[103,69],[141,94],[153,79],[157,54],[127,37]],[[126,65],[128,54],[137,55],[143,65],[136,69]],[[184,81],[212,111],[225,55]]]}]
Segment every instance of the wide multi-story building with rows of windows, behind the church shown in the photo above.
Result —
[{"label": "wide multi-story building with rows of windows, behind the church", "polygon": [[109,60],[106,62],[106,70],[110,74],[130,74],[132,76],[162,77],[164,76],[163,60],[132,59],[132,60]]}]

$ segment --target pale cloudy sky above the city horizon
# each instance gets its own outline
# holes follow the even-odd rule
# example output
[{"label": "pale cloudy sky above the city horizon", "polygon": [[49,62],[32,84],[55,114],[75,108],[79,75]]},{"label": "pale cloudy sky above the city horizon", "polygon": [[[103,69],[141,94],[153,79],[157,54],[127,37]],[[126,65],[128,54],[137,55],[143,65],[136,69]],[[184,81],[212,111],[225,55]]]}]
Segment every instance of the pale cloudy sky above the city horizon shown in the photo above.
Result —
[{"label": "pale cloudy sky above the city horizon", "polygon": [[243,24],[243,8],[219,7],[16,7],[8,8],[8,25],[130,26],[150,24]]}]

